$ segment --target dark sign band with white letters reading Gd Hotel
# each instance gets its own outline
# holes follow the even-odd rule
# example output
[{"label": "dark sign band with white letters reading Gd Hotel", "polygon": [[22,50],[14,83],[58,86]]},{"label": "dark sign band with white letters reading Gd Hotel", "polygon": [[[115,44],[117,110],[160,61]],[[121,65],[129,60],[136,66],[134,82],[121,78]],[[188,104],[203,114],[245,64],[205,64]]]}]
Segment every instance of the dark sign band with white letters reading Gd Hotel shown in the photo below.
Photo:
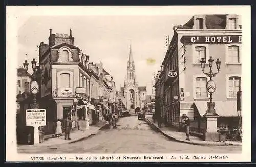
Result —
[{"label": "dark sign band with white letters reading Gd Hotel", "polygon": [[225,44],[225,43],[242,43],[241,35],[229,36],[182,36],[180,39],[183,44]]}]

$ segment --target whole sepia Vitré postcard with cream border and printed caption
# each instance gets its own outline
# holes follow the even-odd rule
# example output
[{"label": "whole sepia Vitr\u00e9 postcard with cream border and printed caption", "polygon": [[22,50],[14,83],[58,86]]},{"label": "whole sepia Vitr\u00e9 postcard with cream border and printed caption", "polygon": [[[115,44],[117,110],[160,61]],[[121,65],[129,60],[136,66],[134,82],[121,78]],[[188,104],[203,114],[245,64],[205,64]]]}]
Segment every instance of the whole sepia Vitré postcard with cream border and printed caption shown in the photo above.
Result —
[{"label": "whole sepia Vitr\u00e9 postcard with cream border and printed caption", "polygon": [[7,162],[251,161],[250,6],[7,6],[6,22]]}]

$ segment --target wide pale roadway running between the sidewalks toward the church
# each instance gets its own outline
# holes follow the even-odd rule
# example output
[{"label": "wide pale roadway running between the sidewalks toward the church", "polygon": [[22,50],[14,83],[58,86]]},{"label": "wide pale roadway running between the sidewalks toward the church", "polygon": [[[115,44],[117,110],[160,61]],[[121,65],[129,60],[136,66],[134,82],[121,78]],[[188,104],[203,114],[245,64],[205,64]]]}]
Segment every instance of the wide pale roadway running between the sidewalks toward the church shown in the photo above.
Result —
[{"label": "wide pale roadway running between the sidewalks toward the church", "polygon": [[[146,116],[151,117],[151,116]],[[71,136],[72,137],[72,136]],[[240,153],[241,146],[199,146],[170,141],[137,116],[120,118],[117,129],[101,130],[86,140],[30,149],[27,153]]]}]

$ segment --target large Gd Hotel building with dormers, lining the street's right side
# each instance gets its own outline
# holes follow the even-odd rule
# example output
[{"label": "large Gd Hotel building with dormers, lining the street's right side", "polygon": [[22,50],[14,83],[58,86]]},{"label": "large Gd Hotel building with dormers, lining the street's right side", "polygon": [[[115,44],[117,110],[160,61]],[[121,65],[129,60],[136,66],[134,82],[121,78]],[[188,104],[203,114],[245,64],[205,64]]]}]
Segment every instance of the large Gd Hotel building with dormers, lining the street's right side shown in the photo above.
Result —
[{"label": "large Gd Hotel building with dormers, lining the street's right side", "polygon": [[[242,26],[238,15],[194,15],[187,23],[173,27],[173,37],[155,76],[156,114],[168,125],[182,127],[182,115],[191,120],[191,130],[205,131],[209,77],[202,72],[201,59],[221,60],[220,72],[212,78],[212,94],[219,115],[217,126],[238,128],[237,91],[241,91]],[[216,66],[212,70],[217,72]],[[200,124],[201,123],[201,124]],[[208,127],[207,127],[208,128]]]}]

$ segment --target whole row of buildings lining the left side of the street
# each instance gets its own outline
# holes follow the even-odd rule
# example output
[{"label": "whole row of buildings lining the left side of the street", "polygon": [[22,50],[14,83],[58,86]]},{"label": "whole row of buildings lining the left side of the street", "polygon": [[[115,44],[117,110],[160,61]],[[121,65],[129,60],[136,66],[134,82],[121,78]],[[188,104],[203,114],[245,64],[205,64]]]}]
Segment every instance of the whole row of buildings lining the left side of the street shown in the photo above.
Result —
[{"label": "whole row of buildings lining the left side of the street", "polygon": [[[46,109],[47,124],[41,129],[45,134],[55,133],[57,119],[69,116],[74,127],[86,121],[91,125],[124,108],[113,76],[103,68],[101,61],[90,62],[89,56],[74,45],[71,29],[69,35],[54,34],[50,29],[48,40],[48,44],[40,43],[38,63],[41,68],[37,66],[35,72],[39,84],[37,103],[39,108]],[[28,133],[26,109],[33,103],[29,90],[31,75],[24,68],[18,68],[17,75],[17,129]],[[82,92],[78,92],[79,88]],[[74,99],[78,99],[77,104]]]}]

